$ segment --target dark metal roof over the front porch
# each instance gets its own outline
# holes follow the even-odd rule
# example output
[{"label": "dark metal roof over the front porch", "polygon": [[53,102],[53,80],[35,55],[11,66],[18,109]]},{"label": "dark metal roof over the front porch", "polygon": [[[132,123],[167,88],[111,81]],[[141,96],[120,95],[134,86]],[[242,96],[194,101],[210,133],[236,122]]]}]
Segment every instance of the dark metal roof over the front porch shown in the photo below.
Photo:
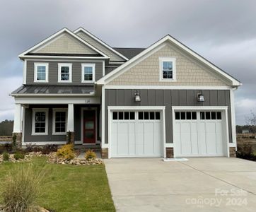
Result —
[{"label": "dark metal roof over the front porch", "polygon": [[94,86],[21,86],[14,90],[12,95],[26,94],[91,94],[94,92]]}]

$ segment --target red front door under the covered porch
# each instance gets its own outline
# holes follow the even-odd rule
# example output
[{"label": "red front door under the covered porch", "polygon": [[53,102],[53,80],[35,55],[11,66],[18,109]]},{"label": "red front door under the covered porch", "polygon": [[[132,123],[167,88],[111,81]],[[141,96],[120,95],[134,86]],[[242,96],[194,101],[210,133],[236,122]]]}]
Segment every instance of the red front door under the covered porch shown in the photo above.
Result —
[{"label": "red front door under the covered porch", "polygon": [[83,111],[83,143],[96,142],[95,110]]}]

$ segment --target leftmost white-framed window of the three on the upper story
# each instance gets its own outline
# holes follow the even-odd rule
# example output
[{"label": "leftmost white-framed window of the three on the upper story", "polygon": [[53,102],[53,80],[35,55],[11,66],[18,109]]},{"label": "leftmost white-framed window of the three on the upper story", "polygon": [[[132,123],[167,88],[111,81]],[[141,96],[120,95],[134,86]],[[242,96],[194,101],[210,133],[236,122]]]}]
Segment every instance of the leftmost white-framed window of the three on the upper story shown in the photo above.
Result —
[{"label": "leftmost white-framed window of the three on the upper story", "polygon": [[38,83],[48,82],[49,64],[35,63],[34,64],[34,81]]}]

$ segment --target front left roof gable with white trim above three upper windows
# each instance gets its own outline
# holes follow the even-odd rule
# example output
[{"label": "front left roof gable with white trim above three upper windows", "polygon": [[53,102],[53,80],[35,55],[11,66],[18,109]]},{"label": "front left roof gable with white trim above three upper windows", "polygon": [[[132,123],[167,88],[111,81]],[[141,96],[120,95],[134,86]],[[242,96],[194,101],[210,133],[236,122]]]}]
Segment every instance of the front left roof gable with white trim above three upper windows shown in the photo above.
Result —
[{"label": "front left roof gable with white trim above three upper windows", "polygon": [[96,49],[66,28],[59,30],[54,35],[26,50],[19,57],[41,57],[42,55],[54,57],[54,54],[59,56],[100,56],[109,58],[106,54],[100,52],[99,49]]}]

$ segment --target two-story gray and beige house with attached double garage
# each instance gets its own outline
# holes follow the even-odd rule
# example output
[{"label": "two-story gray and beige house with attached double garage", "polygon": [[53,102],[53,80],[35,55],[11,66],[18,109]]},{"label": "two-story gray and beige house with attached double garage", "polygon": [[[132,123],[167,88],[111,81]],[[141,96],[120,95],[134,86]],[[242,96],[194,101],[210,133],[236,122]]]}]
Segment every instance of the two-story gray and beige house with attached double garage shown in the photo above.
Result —
[{"label": "two-story gray and beige house with attached double garage", "polygon": [[100,144],[103,158],[234,156],[241,83],[170,35],[113,48],[64,28],[19,55],[19,145]]}]

